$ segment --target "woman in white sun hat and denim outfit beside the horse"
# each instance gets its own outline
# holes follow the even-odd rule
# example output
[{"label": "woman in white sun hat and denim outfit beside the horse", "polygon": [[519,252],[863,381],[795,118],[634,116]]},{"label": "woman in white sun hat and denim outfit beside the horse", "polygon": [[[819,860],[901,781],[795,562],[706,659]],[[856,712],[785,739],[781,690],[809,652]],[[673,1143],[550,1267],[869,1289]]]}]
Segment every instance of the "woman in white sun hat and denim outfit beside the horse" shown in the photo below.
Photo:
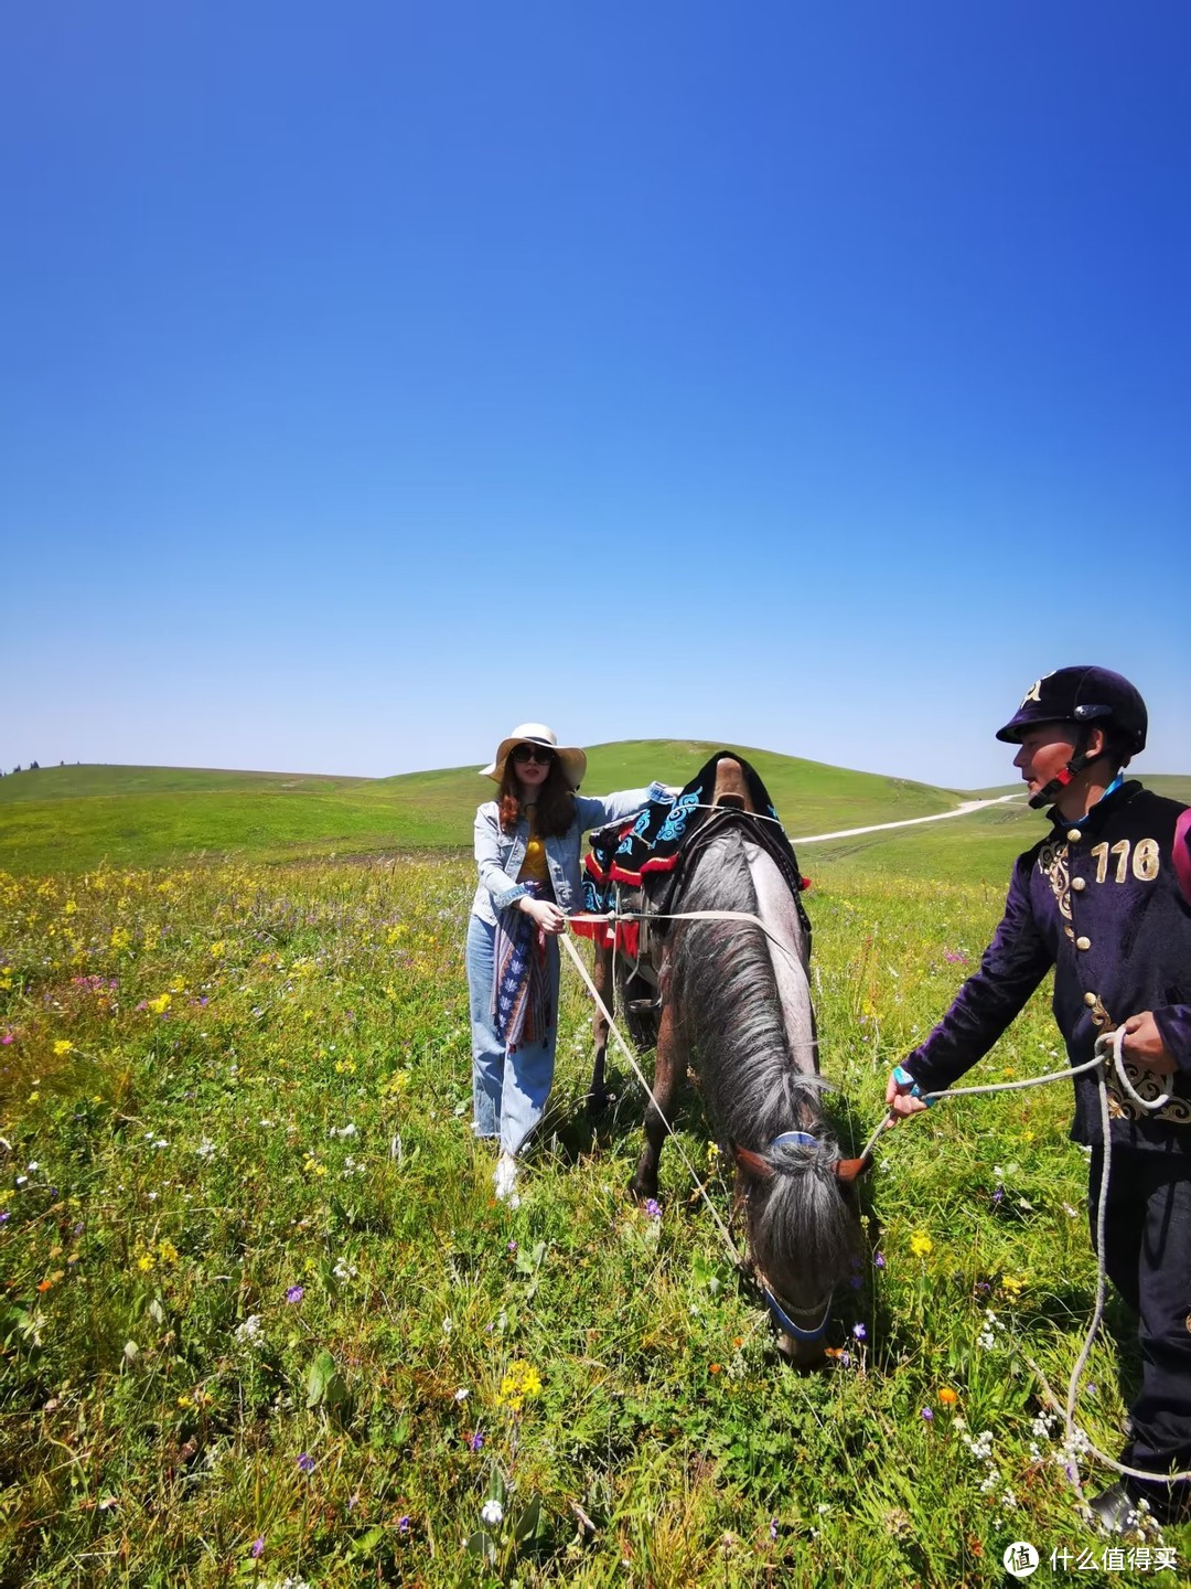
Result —
[{"label": "woman in white sun hat and denim outfit beside the horse", "polygon": [[516,1155],[542,1119],[554,1079],[559,945],[580,904],[580,844],[665,796],[661,783],[594,799],[576,793],[588,769],[545,723],[500,740],[481,777],[500,793],[475,817],[480,887],[467,925],[472,1098],[476,1136],[500,1142],[495,1190],[516,1208]]}]

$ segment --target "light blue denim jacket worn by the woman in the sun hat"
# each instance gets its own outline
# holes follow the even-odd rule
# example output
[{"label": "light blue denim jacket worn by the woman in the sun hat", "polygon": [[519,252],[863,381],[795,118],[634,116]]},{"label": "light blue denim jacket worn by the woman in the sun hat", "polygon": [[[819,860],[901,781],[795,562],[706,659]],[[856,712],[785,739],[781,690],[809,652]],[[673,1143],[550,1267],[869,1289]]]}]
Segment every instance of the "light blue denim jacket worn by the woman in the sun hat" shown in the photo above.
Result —
[{"label": "light blue denim jacket worn by the woman in the sun hat", "polygon": [[[543,839],[546,868],[554,890],[554,903],[570,915],[581,903],[580,866],[583,834],[602,828],[607,822],[622,822],[635,815],[653,799],[665,799],[669,790],[651,783],[645,790],[619,790],[616,794],[596,798],[575,796],[575,820],[561,839]],[[529,822],[522,817],[513,833],[500,828],[500,807],[489,799],[475,814],[475,858],[480,868],[480,887],[472,901],[472,915],[495,926],[497,912],[507,909],[526,893],[518,883],[518,872],[526,858]]]}]

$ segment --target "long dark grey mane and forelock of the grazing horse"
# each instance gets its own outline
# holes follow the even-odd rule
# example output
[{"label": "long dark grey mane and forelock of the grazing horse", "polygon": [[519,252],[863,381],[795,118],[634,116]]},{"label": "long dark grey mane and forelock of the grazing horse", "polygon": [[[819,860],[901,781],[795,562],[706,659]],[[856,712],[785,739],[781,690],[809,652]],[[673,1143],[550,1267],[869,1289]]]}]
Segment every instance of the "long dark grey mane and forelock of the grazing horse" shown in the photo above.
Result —
[{"label": "long dark grey mane and forelock of the grazing horse", "polygon": [[[740,822],[700,845],[672,909],[757,914]],[[791,1052],[764,933],[751,922],[675,926],[669,996],[716,1133],[726,1147],[751,1149],[773,1171],[748,1177],[753,1258],[762,1273],[775,1273],[797,1255],[807,1282],[826,1295],[854,1244],[835,1177],[840,1150],[823,1117],[826,1082],[800,1069]],[[818,1142],[772,1146],[783,1131],[808,1131]]]}]

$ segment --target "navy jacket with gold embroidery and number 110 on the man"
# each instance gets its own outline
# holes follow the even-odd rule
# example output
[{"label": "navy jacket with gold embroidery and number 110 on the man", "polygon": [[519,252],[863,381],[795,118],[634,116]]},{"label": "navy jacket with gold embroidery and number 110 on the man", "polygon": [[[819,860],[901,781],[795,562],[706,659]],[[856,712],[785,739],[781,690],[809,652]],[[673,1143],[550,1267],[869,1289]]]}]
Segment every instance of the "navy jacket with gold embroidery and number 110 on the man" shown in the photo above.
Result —
[{"label": "navy jacket with gold embroidery and number 110 on the man", "polygon": [[[1158,1115],[1139,1109],[1108,1071],[1113,1149],[1191,1152],[1191,904],[1172,863],[1183,809],[1131,782],[1078,822],[1050,814],[1050,836],[1013,866],[980,971],[905,1061],[924,1092],[951,1087],[975,1065],[1053,966],[1054,1019],[1072,1065],[1093,1057],[1102,1031],[1147,1009],[1178,1065],[1174,1077],[1126,1066],[1140,1096],[1172,1092]],[[1100,1141],[1094,1071],[1075,1079],[1070,1135]]]}]

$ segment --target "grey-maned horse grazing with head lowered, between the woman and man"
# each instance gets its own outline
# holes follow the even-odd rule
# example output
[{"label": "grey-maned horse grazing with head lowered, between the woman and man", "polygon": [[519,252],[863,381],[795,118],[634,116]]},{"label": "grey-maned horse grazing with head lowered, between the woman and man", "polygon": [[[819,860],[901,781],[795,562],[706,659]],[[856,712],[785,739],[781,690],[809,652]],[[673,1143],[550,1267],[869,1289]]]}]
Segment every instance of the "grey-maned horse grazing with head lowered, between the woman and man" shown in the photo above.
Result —
[{"label": "grey-maned horse grazing with head lowered, between the woman and man", "polygon": [[[832,1295],[858,1251],[853,1182],[864,1166],[840,1158],[823,1112],[810,928],[794,853],[784,836],[775,837],[777,820],[757,810],[753,771],[721,753],[703,769],[705,782],[711,767],[711,809],[684,841],[664,909],[648,925],[649,944],[615,972],[613,950],[597,944],[597,987],[607,992],[615,974],[634,1036],[648,1041],[656,1031],[645,1147],[629,1190],[638,1200],[657,1197],[667,1122],[689,1061],[721,1150],[735,1165],[750,1263],[778,1344],[813,1367],[824,1355]],[[692,912],[727,915],[683,920]],[[662,922],[662,914],[676,920]],[[589,1098],[599,1106],[607,1022],[597,1017],[596,1028]]]}]

